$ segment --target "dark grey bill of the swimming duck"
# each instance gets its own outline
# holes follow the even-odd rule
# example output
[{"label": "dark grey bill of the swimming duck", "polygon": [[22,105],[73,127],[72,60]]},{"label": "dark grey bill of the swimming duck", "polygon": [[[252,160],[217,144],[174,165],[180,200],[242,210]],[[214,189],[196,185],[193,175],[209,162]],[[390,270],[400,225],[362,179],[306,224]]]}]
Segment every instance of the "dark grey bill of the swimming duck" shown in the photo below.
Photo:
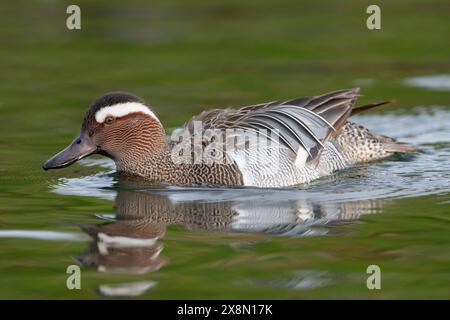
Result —
[{"label": "dark grey bill of the swimming duck", "polygon": [[80,134],[67,148],[45,161],[42,168],[44,170],[65,168],[96,152],[97,146],[92,140],[87,135]]}]

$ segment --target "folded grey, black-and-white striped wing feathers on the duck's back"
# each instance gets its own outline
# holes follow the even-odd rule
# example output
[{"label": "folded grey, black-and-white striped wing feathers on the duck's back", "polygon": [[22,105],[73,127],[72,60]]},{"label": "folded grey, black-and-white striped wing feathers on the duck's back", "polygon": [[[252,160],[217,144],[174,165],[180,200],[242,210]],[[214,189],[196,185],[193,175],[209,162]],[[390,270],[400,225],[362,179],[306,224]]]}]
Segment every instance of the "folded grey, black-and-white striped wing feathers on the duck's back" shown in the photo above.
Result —
[{"label": "folded grey, black-and-white striped wing feathers on the duck's back", "polygon": [[308,160],[320,154],[327,140],[335,137],[351,115],[359,89],[339,90],[315,97],[246,106],[240,109],[213,109],[189,120],[184,127],[193,132],[201,121],[206,129],[269,130],[295,156],[302,148]]}]

